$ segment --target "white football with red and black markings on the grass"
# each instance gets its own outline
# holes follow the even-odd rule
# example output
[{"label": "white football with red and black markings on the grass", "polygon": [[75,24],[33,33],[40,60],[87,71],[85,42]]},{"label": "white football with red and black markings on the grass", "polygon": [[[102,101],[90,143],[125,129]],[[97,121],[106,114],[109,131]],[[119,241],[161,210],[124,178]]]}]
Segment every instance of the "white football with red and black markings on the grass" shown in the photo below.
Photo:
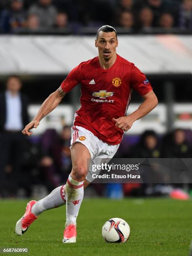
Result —
[{"label": "white football with red and black markings on the grass", "polygon": [[125,220],[112,218],[102,227],[102,236],[106,242],[125,243],[130,235],[130,227]]}]

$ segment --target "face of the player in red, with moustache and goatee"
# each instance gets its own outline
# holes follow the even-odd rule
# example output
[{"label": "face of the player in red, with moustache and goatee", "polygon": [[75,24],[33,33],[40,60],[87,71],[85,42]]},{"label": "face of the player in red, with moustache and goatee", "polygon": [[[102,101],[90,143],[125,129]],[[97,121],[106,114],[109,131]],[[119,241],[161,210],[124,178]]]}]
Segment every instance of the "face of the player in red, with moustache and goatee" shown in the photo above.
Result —
[{"label": "face of the player in red, with moustache and goatee", "polygon": [[103,32],[100,31],[98,38],[95,40],[95,47],[98,47],[99,56],[106,61],[110,60],[114,53],[116,53],[116,47],[118,46],[118,39],[115,32]]}]

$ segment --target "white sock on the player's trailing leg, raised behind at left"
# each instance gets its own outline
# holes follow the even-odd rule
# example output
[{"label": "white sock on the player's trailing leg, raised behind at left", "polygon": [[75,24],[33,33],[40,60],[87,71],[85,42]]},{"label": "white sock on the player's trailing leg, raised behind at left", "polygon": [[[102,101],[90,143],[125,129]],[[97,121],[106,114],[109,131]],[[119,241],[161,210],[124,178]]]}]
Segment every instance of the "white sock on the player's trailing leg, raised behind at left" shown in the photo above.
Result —
[{"label": "white sock on the player's trailing leg, raised behind at left", "polygon": [[56,187],[48,196],[39,200],[31,208],[31,212],[38,216],[45,210],[53,209],[66,204],[64,188],[66,185]]}]

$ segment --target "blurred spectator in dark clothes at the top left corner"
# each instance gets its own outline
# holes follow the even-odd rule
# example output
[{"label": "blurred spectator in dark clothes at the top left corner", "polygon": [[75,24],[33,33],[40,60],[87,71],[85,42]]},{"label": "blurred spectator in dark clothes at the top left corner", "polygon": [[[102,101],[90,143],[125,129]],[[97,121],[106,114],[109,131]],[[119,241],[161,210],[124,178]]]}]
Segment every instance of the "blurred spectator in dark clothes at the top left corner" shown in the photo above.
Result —
[{"label": "blurred spectator in dark clothes at the top left corner", "polygon": [[11,0],[10,8],[0,13],[0,30],[3,33],[12,32],[15,28],[25,26],[26,12],[23,0]]}]

